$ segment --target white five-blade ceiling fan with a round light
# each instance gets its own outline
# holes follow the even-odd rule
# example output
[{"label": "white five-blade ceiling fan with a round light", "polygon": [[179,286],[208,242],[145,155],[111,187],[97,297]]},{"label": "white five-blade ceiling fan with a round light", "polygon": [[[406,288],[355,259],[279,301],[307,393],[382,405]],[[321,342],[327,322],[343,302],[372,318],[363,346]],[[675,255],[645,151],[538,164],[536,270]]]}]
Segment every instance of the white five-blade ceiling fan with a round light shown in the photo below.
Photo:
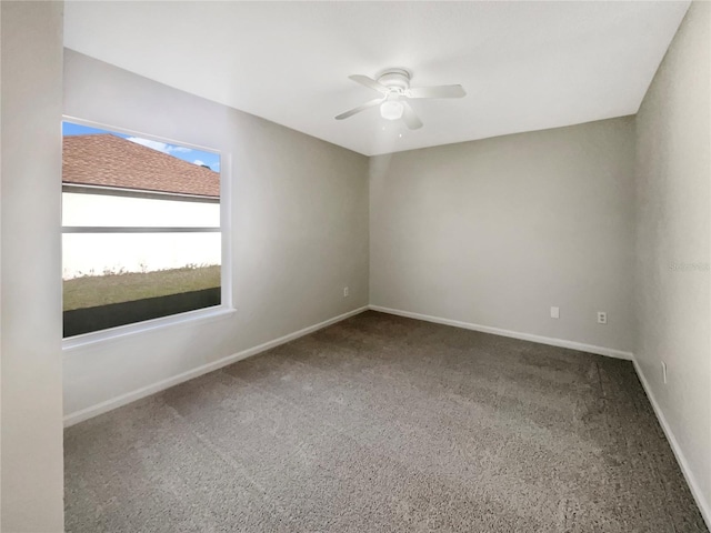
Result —
[{"label": "white five-blade ceiling fan with a round light", "polygon": [[388,69],[378,77],[378,80],[361,74],[349,76],[349,78],[361,86],[378,91],[381,97],[339,114],[336,117],[336,120],[348,119],[368,108],[380,105],[380,114],[383,119],[402,119],[408,128],[417,130],[422,128],[422,121],[408,103],[408,99],[462,98],[467,94],[462,86],[411,88],[410,72],[403,69]]}]

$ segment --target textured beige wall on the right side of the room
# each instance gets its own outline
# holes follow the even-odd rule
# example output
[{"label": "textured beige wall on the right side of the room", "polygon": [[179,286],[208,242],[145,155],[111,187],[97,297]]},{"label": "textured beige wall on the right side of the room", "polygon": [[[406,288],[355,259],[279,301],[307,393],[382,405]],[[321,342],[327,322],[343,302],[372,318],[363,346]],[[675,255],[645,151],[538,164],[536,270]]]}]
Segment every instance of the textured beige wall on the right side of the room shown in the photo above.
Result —
[{"label": "textured beige wall on the right side of the room", "polygon": [[710,28],[711,4],[693,2],[637,115],[635,266],[637,361],[709,522]]}]

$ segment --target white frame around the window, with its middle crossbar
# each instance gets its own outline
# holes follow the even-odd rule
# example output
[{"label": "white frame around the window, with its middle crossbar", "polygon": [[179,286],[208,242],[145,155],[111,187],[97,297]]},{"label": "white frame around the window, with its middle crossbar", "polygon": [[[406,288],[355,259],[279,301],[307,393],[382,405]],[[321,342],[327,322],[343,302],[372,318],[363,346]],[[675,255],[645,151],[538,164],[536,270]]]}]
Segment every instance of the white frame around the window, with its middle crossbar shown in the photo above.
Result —
[{"label": "white frame around the window, with its middle crossbar", "polygon": [[[106,330],[93,331],[90,333],[82,333],[80,335],[69,336],[62,339],[62,350],[71,351],[86,345],[111,341],[113,339],[124,338],[127,335],[136,335],[149,331],[154,331],[164,328],[184,326],[191,324],[199,324],[206,322],[212,322],[214,320],[221,320],[232,315],[237,310],[232,303],[232,209],[231,209],[231,177],[232,177],[232,158],[230,153],[217,150],[214,148],[202,147],[200,144],[193,144],[184,141],[177,141],[164,137],[158,137],[150,133],[143,133],[140,131],[129,130],[126,128],[119,128],[114,125],[102,124],[100,122],[93,122],[77,117],[62,115],[62,122],[73,122],[80,125],[87,125],[89,128],[98,128],[107,131],[116,131],[132,137],[140,137],[158,142],[166,142],[169,144],[177,144],[180,147],[192,148],[204,152],[217,153],[220,155],[220,234],[221,234],[221,264],[220,264],[220,304],[210,308],[198,309],[194,311],[187,311],[183,313],[171,314],[168,316],[161,316],[158,319],[144,320],[141,322],[134,322],[132,324],[118,325],[116,328],[109,328]],[[69,230],[69,231],[66,231]],[[91,230],[98,230],[96,228],[64,228],[61,225],[61,234],[64,233],[90,233]],[[117,229],[101,229],[102,232],[116,232]],[[160,232],[160,231],[176,231],[181,228],[131,228],[131,232]],[[186,230],[182,228],[182,230]],[[191,228],[188,231],[214,231],[204,230],[198,228]],[[63,249],[62,249],[63,254]],[[62,291],[63,298],[63,291]]]}]

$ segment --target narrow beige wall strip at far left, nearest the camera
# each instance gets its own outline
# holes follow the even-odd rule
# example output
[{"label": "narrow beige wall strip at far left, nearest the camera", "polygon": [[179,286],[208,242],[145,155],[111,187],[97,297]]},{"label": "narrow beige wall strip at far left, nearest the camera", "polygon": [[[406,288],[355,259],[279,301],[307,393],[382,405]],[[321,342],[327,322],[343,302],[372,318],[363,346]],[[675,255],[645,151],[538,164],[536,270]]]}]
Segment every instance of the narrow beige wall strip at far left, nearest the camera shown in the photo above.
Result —
[{"label": "narrow beige wall strip at far left, nearest the camera", "polygon": [[62,3],[2,2],[2,522],[63,530]]}]

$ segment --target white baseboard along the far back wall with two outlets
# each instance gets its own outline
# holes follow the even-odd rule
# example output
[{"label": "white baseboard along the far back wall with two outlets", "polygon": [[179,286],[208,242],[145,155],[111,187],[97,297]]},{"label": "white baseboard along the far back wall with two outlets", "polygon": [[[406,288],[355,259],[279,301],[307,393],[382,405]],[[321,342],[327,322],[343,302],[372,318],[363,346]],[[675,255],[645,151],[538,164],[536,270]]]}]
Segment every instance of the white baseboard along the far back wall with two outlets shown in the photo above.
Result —
[{"label": "white baseboard along the far back wall with two outlets", "polygon": [[624,359],[633,361],[631,352],[623,352],[612,348],[595,346],[593,344],[583,344],[581,342],[567,341],[564,339],[553,339],[550,336],[533,335],[531,333],[520,333],[518,331],[502,330],[500,328],[491,328],[489,325],[472,324],[470,322],[461,322],[459,320],[442,319],[440,316],[430,316],[429,314],[411,313],[410,311],[400,311],[398,309],[381,308],[380,305],[369,305],[373,311],[382,313],[397,314],[398,316],[407,316],[408,319],[425,320],[438,324],[453,325],[454,328],[463,328],[465,330],[481,331],[482,333],[492,333],[494,335],[510,336],[522,341],[538,342],[539,344],[548,344],[550,346],[570,348],[579,352],[595,353],[598,355],[607,355],[608,358]]}]

